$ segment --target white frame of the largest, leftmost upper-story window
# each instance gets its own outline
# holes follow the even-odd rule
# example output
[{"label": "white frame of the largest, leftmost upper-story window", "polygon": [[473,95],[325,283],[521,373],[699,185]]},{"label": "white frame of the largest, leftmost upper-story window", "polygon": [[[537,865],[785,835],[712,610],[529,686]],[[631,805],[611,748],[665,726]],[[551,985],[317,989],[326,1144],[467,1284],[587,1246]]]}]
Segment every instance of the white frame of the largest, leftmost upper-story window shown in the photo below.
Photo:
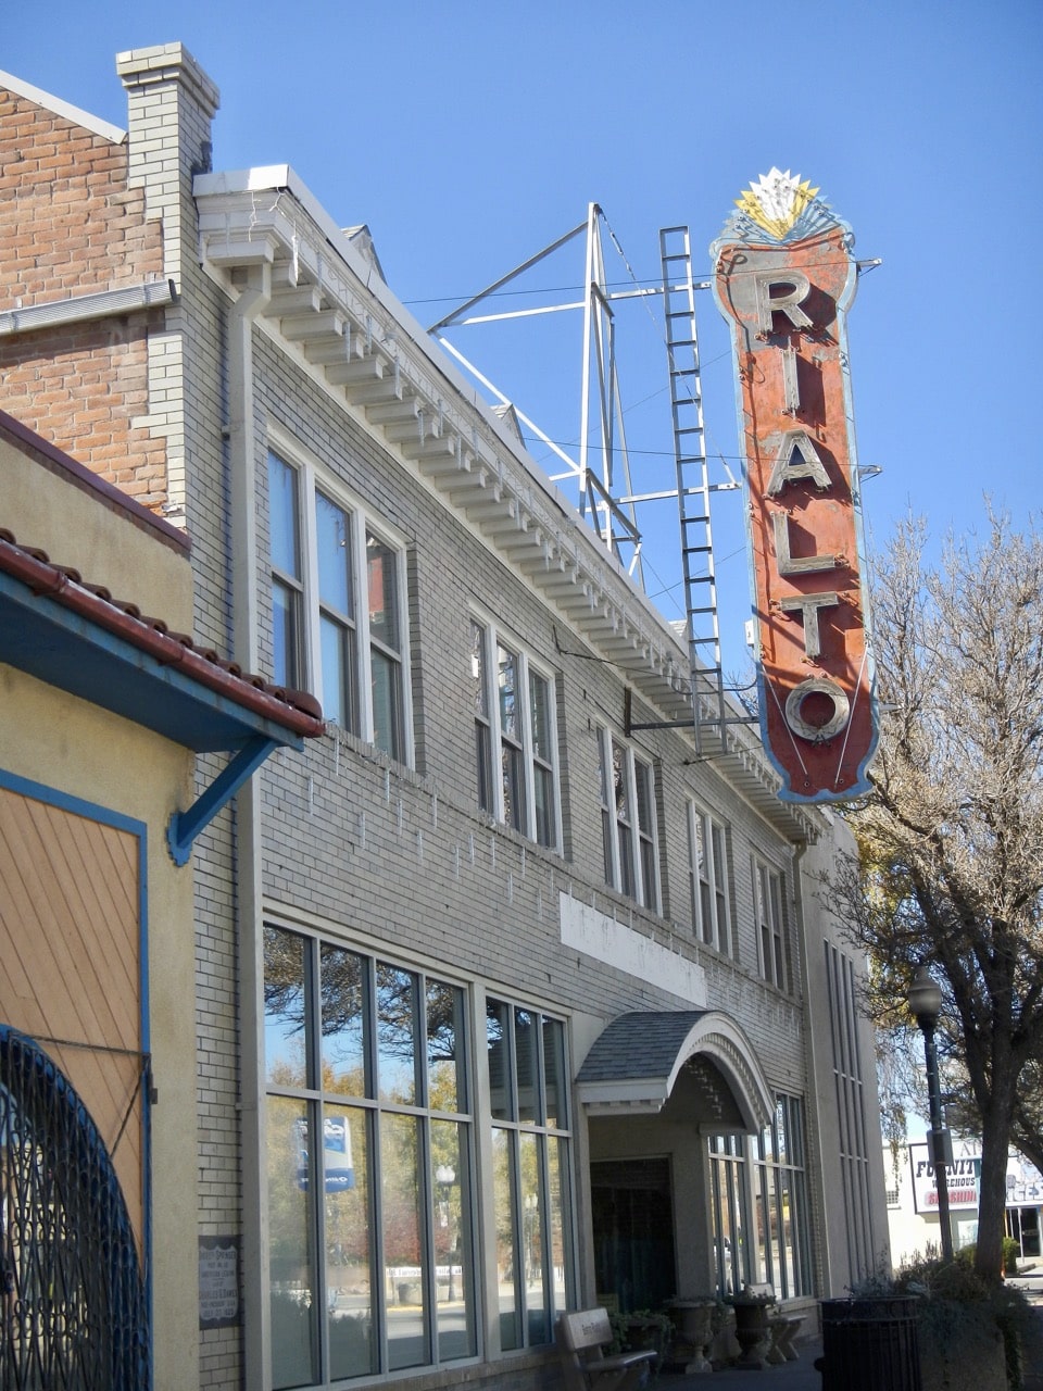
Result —
[{"label": "white frame of the largest, leftmost upper-story window", "polygon": [[[268,430],[268,452],[296,473],[298,536],[300,547],[300,608],[302,632],[298,647],[303,662],[303,680],[312,694],[323,697],[321,605],[318,590],[318,526],[316,494],[321,492],[341,508],[350,527],[350,583],[355,612],[349,630],[353,632],[355,662],[355,727],[349,732],[366,743],[375,744],[373,664],[374,647],[389,655],[389,650],[370,633],[367,537],[387,545],[395,556],[395,605],[399,623],[399,740],[401,748],[387,751],[396,762],[413,766],[413,705],[409,654],[409,598],[406,586],[406,538],[374,515],[364,502],[339,483],[307,449],[293,441],[274,423]],[[277,574],[277,572],[271,572]],[[278,576],[281,579],[281,576]],[[325,711],[324,711],[325,714]],[[327,715],[327,718],[332,718]]]}]

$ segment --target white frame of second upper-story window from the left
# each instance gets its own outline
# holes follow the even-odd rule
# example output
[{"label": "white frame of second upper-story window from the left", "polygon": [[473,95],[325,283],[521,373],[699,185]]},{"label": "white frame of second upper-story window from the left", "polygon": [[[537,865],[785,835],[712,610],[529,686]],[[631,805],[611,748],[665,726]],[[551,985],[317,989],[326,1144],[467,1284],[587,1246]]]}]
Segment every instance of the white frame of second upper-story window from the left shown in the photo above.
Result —
[{"label": "white frame of second upper-story window from the left", "polygon": [[[481,632],[481,679],[485,683],[484,708],[481,712],[477,709],[474,712],[476,729],[485,730],[488,740],[490,805],[483,810],[494,821],[501,822],[501,825],[510,825],[520,835],[526,836],[527,840],[544,846],[547,850],[559,851],[562,846],[562,779],[560,759],[558,757],[558,683],[555,673],[548,666],[544,666],[542,662],[533,658],[524,645],[516,641],[510,633],[498,627],[495,619],[490,618],[488,613],[477,609],[471,611],[469,632],[471,632],[470,625],[474,625]],[[517,690],[515,698],[519,705],[520,737],[508,733],[502,727],[499,700],[501,650],[510,652],[516,664],[515,680]],[[478,673],[476,672],[477,676]],[[533,679],[542,682],[547,687],[549,759],[537,754],[535,750],[530,684]],[[520,808],[517,823],[508,819],[506,797],[503,796],[503,751],[508,748],[516,748],[522,762],[524,805]],[[478,757],[476,736],[476,776],[480,776],[477,766]],[[538,837],[535,815],[537,771],[549,772],[551,775],[549,842],[540,840]]]}]

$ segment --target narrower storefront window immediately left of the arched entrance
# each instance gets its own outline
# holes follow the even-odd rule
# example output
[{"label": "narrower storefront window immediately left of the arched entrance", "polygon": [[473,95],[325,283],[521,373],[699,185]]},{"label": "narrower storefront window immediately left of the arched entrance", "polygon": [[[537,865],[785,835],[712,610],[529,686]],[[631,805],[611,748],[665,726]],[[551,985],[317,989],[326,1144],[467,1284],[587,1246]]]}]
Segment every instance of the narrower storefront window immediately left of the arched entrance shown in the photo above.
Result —
[{"label": "narrower storefront window immediately left of the arched entrance", "polygon": [[573,1288],[565,1029],[490,1000],[499,1337],[503,1351],[551,1342]]}]

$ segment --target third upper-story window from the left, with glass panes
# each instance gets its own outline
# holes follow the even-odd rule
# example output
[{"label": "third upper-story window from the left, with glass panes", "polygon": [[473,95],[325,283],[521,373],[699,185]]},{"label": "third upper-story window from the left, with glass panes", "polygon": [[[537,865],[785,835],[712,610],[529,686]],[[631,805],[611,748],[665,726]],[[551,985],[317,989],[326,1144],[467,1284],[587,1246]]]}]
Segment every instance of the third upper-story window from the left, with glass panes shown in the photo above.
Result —
[{"label": "third upper-story window from the left, with glass panes", "polygon": [[658,911],[659,857],[651,765],[606,729],[598,729],[598,766],[605,881]]}]

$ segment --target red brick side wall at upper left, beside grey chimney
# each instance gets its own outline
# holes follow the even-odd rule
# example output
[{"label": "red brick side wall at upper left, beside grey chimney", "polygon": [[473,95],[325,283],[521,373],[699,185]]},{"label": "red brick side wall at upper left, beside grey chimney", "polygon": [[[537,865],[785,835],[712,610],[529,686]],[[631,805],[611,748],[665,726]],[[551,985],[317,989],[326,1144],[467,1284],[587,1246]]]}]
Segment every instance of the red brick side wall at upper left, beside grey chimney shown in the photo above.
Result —
[{"label": "red brick side wall at upper left, beside grey chimney", "polygon": [[[160,224],[127,188],[127,146],[0,88],[0,310],[161,275]],[[146,506],[165,449],[132,427],[161,312],[0,337],[0,406]]]}]

